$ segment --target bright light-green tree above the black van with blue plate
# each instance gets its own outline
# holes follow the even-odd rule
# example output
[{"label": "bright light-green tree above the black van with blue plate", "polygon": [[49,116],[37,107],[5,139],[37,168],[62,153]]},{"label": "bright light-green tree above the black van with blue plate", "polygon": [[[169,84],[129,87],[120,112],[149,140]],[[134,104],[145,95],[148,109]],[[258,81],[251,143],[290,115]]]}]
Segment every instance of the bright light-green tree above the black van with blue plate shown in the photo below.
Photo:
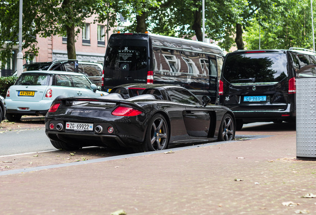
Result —
[{"label": "bright light-green tree above the black van with blue plate", "polygon": [[313,48],[311,4],[306,0],[282,2],[274,19],[253,22],[246,28],[247,49]]}]

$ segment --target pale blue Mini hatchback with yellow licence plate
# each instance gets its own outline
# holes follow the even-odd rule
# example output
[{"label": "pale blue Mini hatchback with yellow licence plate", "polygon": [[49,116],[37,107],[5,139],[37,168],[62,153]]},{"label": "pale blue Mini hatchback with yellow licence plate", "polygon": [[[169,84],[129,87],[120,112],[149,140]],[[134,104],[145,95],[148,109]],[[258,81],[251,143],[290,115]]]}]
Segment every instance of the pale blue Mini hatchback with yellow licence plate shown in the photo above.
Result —
[{"label": "pale blue Mini hatchback with yellow licence plate", "polygon": [[18,121],[22,115],[45,115],[56,98],[107,95],[83,74],[61,71],[23,72],[9,87],[5,97],[6,119]]}]

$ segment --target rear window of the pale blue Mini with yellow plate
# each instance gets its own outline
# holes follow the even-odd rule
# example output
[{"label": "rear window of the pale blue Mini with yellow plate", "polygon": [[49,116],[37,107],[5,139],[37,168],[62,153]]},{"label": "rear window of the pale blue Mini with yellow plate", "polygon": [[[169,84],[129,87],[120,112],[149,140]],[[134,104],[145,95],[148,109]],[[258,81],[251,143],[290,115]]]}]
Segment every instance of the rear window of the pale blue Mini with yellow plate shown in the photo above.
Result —
[{"label": "rear window of the pale blue Mini with yellow plate", "polygon": [[48,85],[48,74],[21,74],[14,85]]}]

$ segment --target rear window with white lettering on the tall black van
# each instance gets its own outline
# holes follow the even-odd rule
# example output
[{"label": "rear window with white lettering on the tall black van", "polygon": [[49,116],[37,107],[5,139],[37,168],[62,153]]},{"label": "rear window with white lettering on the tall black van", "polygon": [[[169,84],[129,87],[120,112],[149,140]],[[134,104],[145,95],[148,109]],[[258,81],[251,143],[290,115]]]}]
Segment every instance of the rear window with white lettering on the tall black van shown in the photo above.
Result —
[{"label": "rear window with white lettering on the tall black van", "polygon": [[147,68],[146,46],[108,46],[105,68],[111,70],[136,71]]}]

